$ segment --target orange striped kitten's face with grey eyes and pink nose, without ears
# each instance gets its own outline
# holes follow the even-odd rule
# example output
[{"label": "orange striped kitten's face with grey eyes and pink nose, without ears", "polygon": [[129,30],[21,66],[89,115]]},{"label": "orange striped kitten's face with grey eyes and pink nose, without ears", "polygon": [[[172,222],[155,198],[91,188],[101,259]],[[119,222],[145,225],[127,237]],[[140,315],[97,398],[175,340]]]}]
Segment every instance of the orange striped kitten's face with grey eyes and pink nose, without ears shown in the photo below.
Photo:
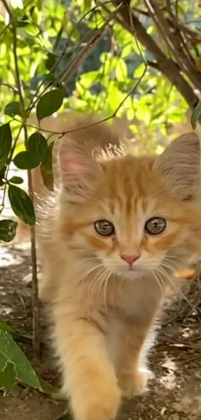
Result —
[{"label": "orange striped kitten's face with grey eyes and pink nose, without ears", "polygon": [[121,276],[179,267],[201,240],[197,204],[186,200],[188,182],[178,191],[165,189],[154,160],[127,156],[102,163],[86,182],[90,199],[82,186],[64,228],[73,249]]}]

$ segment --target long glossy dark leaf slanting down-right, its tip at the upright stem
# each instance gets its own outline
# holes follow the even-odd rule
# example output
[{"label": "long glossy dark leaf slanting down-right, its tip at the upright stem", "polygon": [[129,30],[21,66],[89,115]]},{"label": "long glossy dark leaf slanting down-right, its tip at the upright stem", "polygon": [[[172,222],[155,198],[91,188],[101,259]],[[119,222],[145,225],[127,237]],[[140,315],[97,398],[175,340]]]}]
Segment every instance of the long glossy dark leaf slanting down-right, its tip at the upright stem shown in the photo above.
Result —
[{"label": "long glossy dark leaf slanting down-right, its tip at the upright stem", "polygon": [[33,226],[35,224],[33,203],[26,192],[15,185],[9,185],[8,197],[14,214],[24,223]]}]

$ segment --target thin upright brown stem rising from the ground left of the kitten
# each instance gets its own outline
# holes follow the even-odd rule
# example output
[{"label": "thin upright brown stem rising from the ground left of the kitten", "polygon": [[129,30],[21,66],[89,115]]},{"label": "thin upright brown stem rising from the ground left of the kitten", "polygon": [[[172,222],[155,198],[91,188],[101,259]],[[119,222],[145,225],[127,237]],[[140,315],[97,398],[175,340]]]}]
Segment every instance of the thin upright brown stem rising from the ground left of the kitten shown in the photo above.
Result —
[{"label": "thin upright brown stem rising from the ground left of the kitten", "polygon": [[[16,85],[18,89],[18,95],[20,100],[21,112],[22,112],[22,126],[24,132],[24,142],[25,146],[28,142],[28,133],[26,126],[26,112],[24,105],[24,96],[23,88],[20,81],[19,67],[17,61],[17,35],[16,29],[12,25],[12,14],[7,5],[6,0],[3,0],[3,5],[6,8],[7,13],[9,14],[11,21],[11,32],[13,36],[13,57],[14,57],[14,67],[15,67],[15,76],[16,76]],[[28,176],[28,193],[29,197],[34,202],[34,192],[32,184],[32,174],[31,170],[27,171]],[[35,227],[30,226],[30,239],[31,239],[31,267],[32,267],[32,344],[34,356],[39,356],[40,351],[40,334],[39,334],[39,299],[38,299],[38,282],[37,282],[37,258],[36,258],[36,241],[35,241]]]}]

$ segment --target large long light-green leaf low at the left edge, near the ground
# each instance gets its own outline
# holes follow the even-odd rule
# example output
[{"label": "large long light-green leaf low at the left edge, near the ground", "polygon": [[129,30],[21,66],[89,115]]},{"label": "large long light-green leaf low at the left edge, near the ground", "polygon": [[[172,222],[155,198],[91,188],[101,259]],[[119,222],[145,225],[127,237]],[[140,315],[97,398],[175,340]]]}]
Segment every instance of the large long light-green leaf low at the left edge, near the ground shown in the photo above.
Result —
[{"label": "large long light-green leaf low at the left edge, near the ground", "polygon": [[7,362],[15,365],[16,379],[41,390],[39,379],[26,356],[14,342],[10,334],[0,330],[0,366],[4,367]]}]

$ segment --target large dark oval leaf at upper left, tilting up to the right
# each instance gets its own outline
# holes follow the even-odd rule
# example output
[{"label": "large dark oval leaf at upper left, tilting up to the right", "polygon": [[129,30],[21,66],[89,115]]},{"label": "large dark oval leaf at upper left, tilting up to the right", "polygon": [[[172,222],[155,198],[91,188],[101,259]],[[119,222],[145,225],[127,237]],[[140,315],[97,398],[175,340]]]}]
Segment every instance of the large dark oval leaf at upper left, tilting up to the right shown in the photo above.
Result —
[{"label": "large dark oval leaf at upper left, tilting up to the right", "polygon": [[38,101],[36,106],[36,116],[38,121],[49,117],[58,111],[63,103],[63,90],[58,88],[45,93]]}]

